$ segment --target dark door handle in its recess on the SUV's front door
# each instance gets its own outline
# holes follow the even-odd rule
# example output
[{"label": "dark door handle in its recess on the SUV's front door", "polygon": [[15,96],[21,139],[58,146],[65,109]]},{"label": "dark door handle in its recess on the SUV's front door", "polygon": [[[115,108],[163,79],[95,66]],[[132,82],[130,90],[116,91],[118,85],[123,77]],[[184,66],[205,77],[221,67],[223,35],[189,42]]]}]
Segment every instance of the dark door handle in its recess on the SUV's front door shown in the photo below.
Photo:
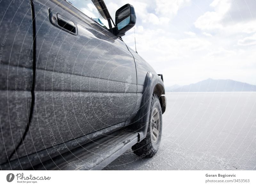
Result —
[{"label": "dark door handle in its recess on the SUV's front door", "polygon": [[76,23],[70,19],[63,17],[59,13],[54,14],[51,9],[49,9],[49,18],[54,26],[59,27],[70,34],[77,35]]}]

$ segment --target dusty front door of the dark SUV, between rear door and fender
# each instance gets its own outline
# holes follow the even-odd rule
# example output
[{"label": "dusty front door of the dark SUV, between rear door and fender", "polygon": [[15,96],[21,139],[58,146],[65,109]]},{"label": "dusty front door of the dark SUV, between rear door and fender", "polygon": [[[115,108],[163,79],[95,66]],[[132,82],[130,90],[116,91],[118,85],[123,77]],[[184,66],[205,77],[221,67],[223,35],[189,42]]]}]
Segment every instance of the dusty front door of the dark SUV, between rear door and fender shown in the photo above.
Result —
[{"label": "dusty front door of the dark SUV, between rear door and fender", "polygon": [[19,156],[124,125],[135,107],[137,79],[131,53],[106,29],[104,20],[92,17],[97,9],[87,4],[91,1],[70,2],[34,3],[35,110]]}]

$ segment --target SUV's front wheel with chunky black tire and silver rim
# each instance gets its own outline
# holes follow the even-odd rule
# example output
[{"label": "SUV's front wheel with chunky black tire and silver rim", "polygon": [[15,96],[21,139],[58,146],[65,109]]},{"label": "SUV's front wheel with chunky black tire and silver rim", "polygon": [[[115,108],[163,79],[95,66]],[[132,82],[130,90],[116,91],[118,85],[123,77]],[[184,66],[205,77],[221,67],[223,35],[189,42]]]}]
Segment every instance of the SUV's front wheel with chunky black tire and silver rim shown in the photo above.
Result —
[{"label": "SUV's front wheel with chunky black tire and silver rim", "polygon": [[[158,121],[157,115],[158,114]],[[155,116],[155,117],[154,117]],[[157,133],[157,131],[158,133]],[[157,133],[157,135],[156,135]],[[132,146],[134,154],[140,157],[153,157],[158,151],[162,137],[162,109],[159,98],[153,94],[150,105],[150,114],[148,122],[148,131],[146,138],[140,143]]]}]

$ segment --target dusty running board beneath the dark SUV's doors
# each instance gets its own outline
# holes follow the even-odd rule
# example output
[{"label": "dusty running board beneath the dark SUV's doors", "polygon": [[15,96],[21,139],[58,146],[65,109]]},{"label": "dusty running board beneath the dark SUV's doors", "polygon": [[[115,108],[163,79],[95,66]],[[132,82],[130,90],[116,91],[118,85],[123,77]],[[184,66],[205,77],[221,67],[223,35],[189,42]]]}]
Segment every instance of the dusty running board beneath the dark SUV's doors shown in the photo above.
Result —
[{"label": "dusty running board beneath the dark SUV's doors", "polygon": [[101,170],[138,141],[137,132],[119,130],[33,168],[35,170]]}]

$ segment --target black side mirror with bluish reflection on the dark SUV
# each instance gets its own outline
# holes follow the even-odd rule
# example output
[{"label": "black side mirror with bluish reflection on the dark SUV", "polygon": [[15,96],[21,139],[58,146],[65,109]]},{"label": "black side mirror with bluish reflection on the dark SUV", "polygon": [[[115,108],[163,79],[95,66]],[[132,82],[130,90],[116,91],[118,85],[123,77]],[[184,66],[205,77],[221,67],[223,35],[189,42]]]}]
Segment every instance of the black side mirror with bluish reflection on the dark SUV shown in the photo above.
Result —
[{"label": "black side mirror with bluish reflection on the dark SUV", "polygon": [[116,11],[116,26],[114,34],[124,36],[125,32],[130,30],[136,23],[136,15],[131,4],[125,4]]}]

